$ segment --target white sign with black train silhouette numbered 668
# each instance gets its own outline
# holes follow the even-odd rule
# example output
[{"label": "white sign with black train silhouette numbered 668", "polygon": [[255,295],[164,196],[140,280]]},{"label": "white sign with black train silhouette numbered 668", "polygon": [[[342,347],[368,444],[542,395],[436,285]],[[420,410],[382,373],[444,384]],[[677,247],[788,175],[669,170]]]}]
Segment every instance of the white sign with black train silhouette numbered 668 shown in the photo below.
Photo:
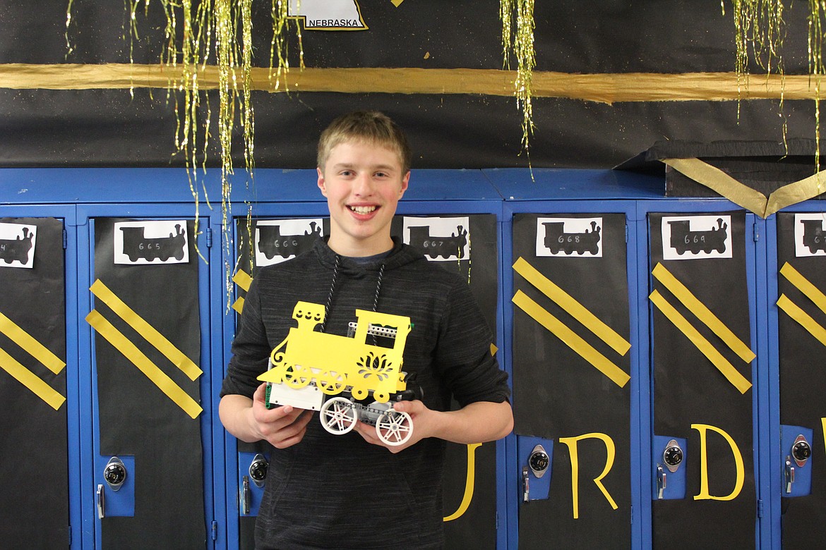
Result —
[{"label": "white sign with black train silhouette numbered 668", "polygon": [[602,257],[601,218],[537,218],[536,256]]}]

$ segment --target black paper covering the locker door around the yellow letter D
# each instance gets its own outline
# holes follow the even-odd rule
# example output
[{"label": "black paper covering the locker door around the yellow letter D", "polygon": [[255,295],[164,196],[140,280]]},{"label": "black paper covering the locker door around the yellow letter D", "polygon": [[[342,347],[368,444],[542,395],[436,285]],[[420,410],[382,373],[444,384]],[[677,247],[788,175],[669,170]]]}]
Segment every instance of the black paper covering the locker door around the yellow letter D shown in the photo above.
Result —
[{"label": "black paper covering the locker door around the yellow letter D", "polygon": [[[662,217],[648,214],[651,265],[657,262],[685,284],[740,340],[751,347],[745,256],[745,214],[731,215],[733,257],[729,259],[662,259]],[[683,214],[679,214],[683,215]],[[703,215],[710,215],[708,213]],[[653,288],[668,300],[749,381],[752,367],[734,355],[717,336],[689,313],[657,280]],[[705,355],[678,331],[653,304],[653,425],[655,435],[688,440],[686,498],[653,501],[653,545],[665,548],[679,542],[683,548],[748,548],[754,546],[757,519],[752,443],[752,389],[741,394]],[[743,489],[733,501],[695,501],[700,494],[700,436],[691,424],[716,426],[728,433],[743,455]],[[729,495],[734,487],[734,459],[722,436],[709,431],[709,492]]]}]

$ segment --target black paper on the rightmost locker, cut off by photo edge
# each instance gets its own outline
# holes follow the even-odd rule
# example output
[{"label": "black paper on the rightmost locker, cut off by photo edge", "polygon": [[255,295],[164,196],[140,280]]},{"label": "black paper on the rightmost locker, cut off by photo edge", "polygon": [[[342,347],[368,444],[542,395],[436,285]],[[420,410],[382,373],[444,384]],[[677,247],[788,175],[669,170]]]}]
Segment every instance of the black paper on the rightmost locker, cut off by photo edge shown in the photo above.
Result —
[{"label": "black paper on the rightmost locker, cut off by photo edge", "polygon": [[[777,214],[777,267],[786,262],[819,289],[826,290],[826,257],[795,256],[795,214]],[[792,302],[821,325],[824,314],[782,275],[777,275],[778,296],[786,294]],[[824,346],[786,313],[779,312],[778,340],[780,348],[780,421],[784,425],[800,425],[814,430],[809,441],[812,457],[812,492],[807,496],[782,500],[782,541],[784,548],[816,548],[826,537],[826,456],[821,418],[826,416],[824,390]],[[781,449],[785,458],[789,449]],[[771,472],[780,475],[780,464]]]}]

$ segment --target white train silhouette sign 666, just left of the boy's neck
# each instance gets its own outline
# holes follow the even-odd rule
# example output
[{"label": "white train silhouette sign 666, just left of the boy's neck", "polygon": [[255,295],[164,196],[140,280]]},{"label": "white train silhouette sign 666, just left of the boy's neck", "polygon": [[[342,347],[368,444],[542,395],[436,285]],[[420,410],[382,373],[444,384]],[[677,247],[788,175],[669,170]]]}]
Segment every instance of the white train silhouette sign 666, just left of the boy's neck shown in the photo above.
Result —
[{"label": "white train silhouette sign 666, just left of the boy's neck", "polygon": [[[261,219],[255,223],[255,266],[272,266],[309,250],[322,236],[323,220]],[[236,283],[238,281],[235,281]],[[241,288],[243,285],[239,284]],[[246,289],[249,289],[249,284]]]}]

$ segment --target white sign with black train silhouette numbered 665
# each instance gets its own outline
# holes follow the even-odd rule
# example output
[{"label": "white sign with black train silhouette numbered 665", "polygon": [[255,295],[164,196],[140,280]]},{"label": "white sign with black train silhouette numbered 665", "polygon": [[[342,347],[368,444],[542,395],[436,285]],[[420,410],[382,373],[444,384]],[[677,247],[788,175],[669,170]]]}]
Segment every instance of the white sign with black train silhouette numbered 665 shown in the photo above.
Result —
[{"label": "white sign with black train silhouette numbered 665", "polygon": [[189,262],[187,222],[183,219],[118,222],[114,241],[116,264]]}]

